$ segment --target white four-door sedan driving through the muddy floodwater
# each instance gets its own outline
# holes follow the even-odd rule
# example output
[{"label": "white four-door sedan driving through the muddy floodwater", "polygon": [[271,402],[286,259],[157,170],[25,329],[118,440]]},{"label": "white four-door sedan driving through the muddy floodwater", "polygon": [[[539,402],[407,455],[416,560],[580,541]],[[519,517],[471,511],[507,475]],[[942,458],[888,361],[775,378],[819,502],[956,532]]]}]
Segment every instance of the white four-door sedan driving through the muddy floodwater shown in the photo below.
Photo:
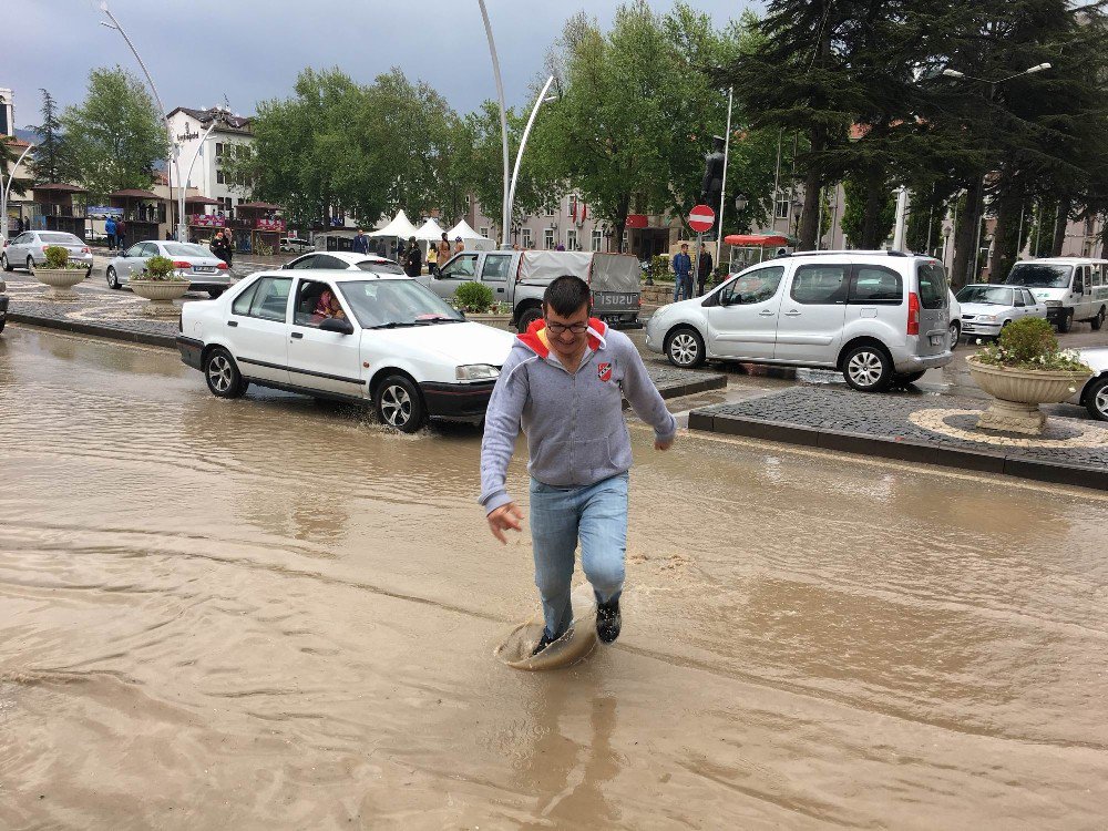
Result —
[{"label": "white four-door sedan driving through the muddy floodwater", "polygon": [[403,432],[479,420],[513,336],[473,324],[407,276],[298,269],[250,275],[185,304],[177,349],[219,398],[248,384],[372,402]]}]

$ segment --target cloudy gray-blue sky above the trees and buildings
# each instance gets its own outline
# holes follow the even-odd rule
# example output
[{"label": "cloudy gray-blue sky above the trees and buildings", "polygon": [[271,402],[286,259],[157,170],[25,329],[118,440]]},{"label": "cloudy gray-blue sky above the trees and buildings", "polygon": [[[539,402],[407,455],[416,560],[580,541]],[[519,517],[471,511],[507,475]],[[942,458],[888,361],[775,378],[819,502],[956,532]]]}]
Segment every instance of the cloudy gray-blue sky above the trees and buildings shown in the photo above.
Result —
[{"label": "cloudy gray-blue sky above the trees and buildings", "polygon": [[[485,0],[509,106],[530,106],[562,24],[582,9],[607,27],[619,0]],[[120,64],[141,70],[119,32],[100,25],[101,0],[3,0],[4,20],[21,37],[6,38],[0,88],[11,89],[16,124],[40,121],[40,88],[59,104],[84,99],[89,71]],[[750,0],[690,0],[717,27]],[[666,11],[671,0],[652,0]],[[371,82],[392,66],[423,80],[460,113],[496,95],[478,0],[110,0],[142,55],[167,110],[207,107],[224,95],[252,115],[257,101],[285,98],[305,66],[338,66]],[[17,22],[18,21],[18,22]],[[22,35],[28,37],[22,37]],[[49,48],[48,48],[49,47]]]}]

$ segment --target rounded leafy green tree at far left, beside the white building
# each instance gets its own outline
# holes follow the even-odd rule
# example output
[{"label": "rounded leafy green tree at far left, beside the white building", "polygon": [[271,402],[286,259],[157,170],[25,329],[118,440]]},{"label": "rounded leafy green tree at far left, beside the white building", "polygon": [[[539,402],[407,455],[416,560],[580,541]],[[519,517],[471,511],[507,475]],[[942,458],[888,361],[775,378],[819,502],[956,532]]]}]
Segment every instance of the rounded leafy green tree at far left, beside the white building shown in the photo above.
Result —
[{"label": "rounded leafy green tree at far left, beside the white building", "polygon": [[120,66],[94,69],[83,103],[61,117],[69,157],[94,197],[125,187],[150,187],[165,158],[165,123],[146,89]]}]

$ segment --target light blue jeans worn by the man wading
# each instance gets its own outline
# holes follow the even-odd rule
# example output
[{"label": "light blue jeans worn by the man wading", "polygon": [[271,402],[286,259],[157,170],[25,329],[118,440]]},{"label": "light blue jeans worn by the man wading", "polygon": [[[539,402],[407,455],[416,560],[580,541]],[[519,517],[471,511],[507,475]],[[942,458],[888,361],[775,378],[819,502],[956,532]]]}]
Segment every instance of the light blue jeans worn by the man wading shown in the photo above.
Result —
[{"label": "light blue jeans worn by the man wading", "polygon": [[582,488],[554,488],[531,480],[535,585],[551,637],[561,637],[573,623],[570,581],[578,540],[581,565],[596,602],[608,603],[623,591],[627,480],[620,473]]}]

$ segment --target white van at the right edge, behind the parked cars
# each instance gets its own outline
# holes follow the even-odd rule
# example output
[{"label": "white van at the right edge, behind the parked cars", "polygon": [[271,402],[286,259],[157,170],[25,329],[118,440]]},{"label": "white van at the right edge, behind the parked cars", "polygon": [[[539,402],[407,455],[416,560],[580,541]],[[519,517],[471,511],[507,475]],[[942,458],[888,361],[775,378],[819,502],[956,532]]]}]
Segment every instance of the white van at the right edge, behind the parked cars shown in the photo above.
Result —
[{"label": "white van at the right edge, behind the parked cars", "polygon": [[1108,311],[1108,259],[1050,257],[1025,259],[1012,266],[1008,286],[1029,288],[1047,307],[1047,320],[1058,331],[1069,331],[1083,320],[1097,331]]}]

